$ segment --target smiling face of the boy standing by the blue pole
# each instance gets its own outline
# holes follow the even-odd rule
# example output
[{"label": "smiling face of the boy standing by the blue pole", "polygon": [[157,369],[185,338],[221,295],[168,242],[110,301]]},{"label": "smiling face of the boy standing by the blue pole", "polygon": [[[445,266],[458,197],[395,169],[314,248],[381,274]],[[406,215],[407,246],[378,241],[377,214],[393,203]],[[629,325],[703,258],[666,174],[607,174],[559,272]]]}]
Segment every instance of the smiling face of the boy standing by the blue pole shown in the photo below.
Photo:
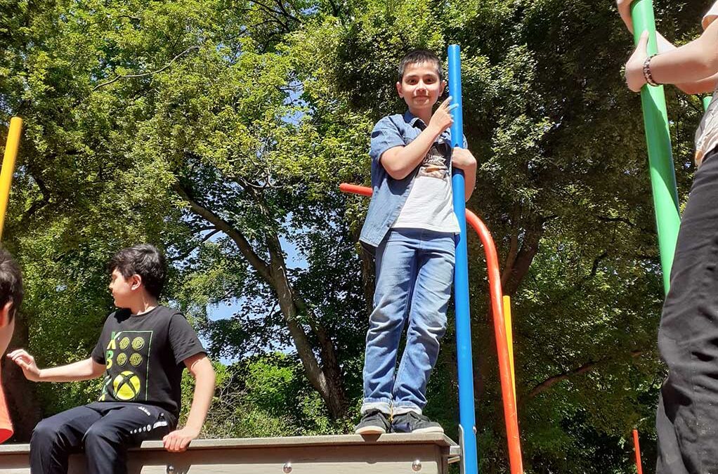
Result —
[{"label": "smiling face of the boy standing by the blue pole", "polygon": [[404,77],[396,83],[396,91],[412,112],[431,110],[444,88],[446,81],[439,80],[437,65],[430,61],[406,65]]}]

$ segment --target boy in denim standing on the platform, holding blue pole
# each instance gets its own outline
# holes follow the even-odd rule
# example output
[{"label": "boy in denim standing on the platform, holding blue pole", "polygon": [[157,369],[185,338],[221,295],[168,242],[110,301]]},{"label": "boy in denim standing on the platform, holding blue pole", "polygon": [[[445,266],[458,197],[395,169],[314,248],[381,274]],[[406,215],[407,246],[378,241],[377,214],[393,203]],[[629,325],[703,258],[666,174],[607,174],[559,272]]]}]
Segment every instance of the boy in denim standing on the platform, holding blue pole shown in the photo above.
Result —
[{"label": "boy in denim standing on the platform, holding blue pole", "polygon": [[[446,87],[437,55],[410,52],[401,60],[398,79],[396,90],[409,110],[384,117],[371,134],[373,196],[360,241],[376,248],[376,291],[358,434],[444,431],[421,412],[446,331],[454,276],[459,224],[452,167],[465,173],[465,199],[476,181],[476,159],[466,143],[450,146],[451,98],[432,113]],[[395,376],[407,320],[406,348]]]}]

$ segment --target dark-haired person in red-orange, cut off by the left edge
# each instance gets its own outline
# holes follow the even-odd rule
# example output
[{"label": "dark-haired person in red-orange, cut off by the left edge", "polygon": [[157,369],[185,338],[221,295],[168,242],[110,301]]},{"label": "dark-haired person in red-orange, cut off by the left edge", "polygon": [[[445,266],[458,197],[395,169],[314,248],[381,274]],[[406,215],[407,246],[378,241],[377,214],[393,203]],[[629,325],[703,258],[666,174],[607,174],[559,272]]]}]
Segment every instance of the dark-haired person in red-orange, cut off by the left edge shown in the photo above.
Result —
[{"label": "dark-haired person in red-orange, cut off by the left edge", "polygon": [[[5,250],[0,249],[0,355],[5,353],[15,328],[15,314],[22,303],[22,274],[20,267]],[[0,374],[1,379],[1,374]],[[13,434],[7,412],[5,394],[0,386],[0,442]]]}]

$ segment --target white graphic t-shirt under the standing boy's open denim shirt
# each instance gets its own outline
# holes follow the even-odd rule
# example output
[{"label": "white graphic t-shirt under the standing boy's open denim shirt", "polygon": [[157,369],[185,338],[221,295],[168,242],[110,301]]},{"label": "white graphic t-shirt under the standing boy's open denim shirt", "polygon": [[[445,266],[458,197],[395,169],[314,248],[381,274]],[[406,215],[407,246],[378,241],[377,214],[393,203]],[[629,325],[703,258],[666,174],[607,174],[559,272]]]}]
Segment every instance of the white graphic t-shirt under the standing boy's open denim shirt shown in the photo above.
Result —
[{"label": "white graphic t-shirt under the standing boy's open denim shirt", "polygon": [[409,197],[392,228],[420,228],[459,233],[452,205],[451,149],[444,142],[432,145],[411,185]]}]

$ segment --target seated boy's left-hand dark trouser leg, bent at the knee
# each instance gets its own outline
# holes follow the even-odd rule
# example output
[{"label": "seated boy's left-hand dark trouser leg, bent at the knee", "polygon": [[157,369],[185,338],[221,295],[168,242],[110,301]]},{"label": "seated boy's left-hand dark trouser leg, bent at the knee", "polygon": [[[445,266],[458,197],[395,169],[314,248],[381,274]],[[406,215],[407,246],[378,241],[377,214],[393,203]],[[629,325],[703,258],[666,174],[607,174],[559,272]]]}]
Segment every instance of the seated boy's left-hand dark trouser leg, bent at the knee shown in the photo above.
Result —
[{"label": "seated boy's left-hand dark trouser leg, bent at the knee", "polygon": [[80,450],[85,432],[100,418],[99,412],[78,406],[39,422],[30,439],[30,473],[67,474],[67,457]]}]

